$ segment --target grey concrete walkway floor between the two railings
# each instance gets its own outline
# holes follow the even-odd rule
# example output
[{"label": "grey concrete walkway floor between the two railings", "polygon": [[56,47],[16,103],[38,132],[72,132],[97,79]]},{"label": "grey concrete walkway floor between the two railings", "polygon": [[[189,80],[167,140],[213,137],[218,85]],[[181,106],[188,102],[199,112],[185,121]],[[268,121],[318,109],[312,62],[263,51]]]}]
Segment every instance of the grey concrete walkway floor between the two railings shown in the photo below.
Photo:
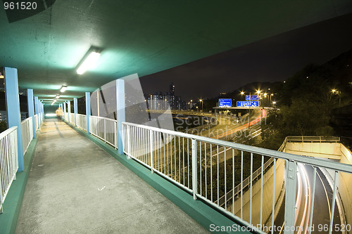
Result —
[{"label": "grey concrete walkway floor between the two railings", "polygon": [[16,233],[208,233],[99,146],[45,119]]}]

